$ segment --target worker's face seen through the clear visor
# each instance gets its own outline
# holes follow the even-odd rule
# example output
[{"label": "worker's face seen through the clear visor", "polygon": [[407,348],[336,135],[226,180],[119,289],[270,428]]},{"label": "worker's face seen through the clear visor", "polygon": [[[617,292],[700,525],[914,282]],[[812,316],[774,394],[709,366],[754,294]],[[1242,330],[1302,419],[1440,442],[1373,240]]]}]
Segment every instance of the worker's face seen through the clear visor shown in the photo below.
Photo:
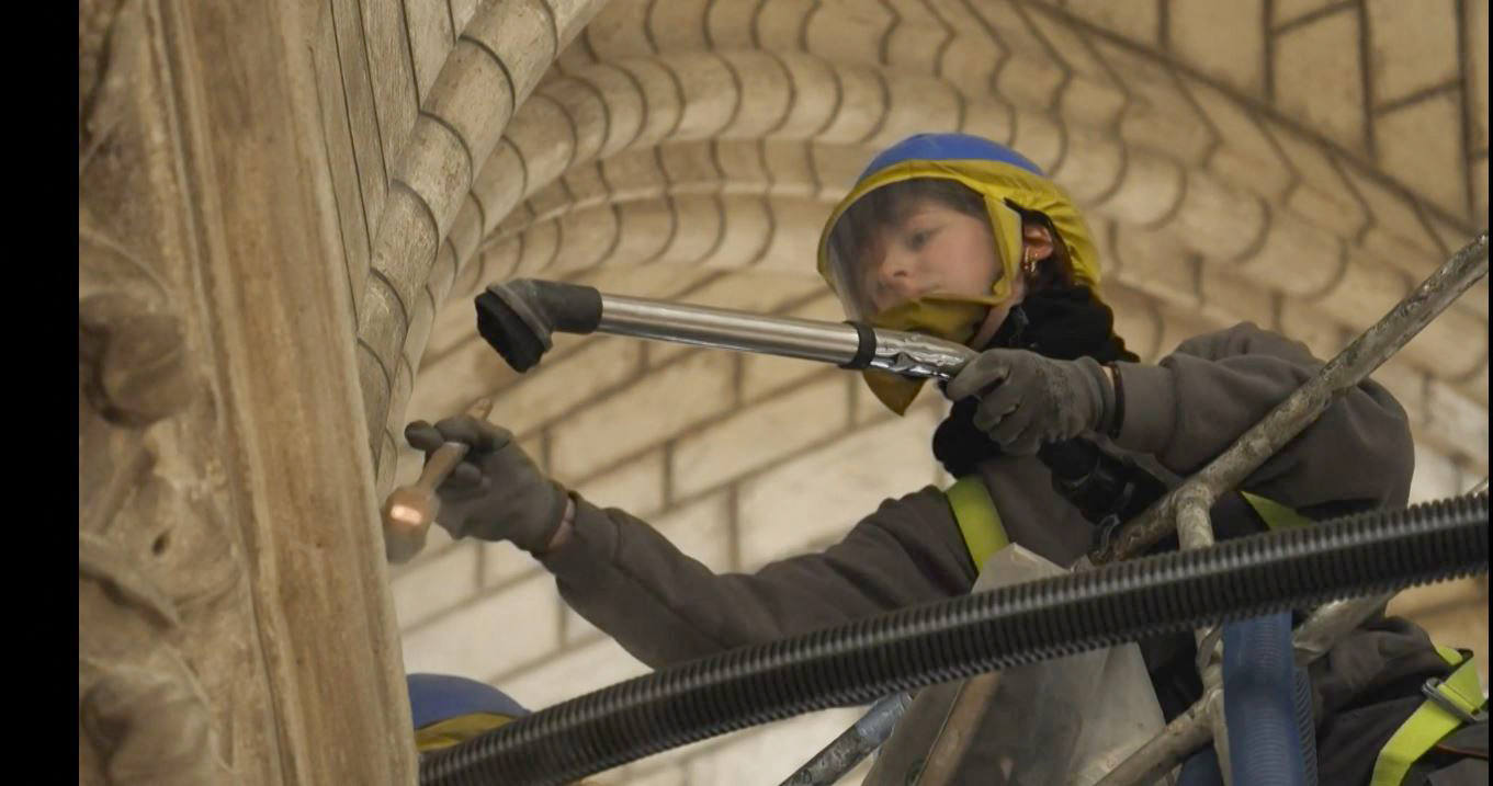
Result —
[{"label": "worker's face seen through the clear visor", "polygon": [[1002,265],[987,219],[920,198],[872,231],[858,270],[879,313],[929,294],[988,295]]}]

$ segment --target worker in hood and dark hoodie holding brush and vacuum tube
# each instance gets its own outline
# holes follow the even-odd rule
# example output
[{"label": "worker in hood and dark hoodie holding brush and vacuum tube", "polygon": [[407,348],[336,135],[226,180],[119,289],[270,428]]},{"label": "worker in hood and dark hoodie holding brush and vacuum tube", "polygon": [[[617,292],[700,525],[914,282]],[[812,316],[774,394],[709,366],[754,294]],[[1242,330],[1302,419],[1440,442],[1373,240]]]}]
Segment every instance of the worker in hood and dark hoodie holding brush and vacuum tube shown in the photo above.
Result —
[{"label": "worker in hood and dark hoodie holding brush and vacuum tube", "polygon": [[[1044,446],[1097,440],[1175,480],[1321,368],[1303,345],[1253,324],[1139,362],[1114,331],[1072,200],[1032,161],[972,136],[920,134],[876,155],[830,213],[818,271],[850,319],[979,350],[947,383],[953,407],[933,453],[956,486],[993,506],[1005,540],[1059,565],[1091,547],[1094,525],[1053,491]],[[879,373],[866,382],[897,413],[923,385]],[[572,609],[651,667],[947,600],[970,589],[988,556],[990,538],[961,528],[945,491],[929,486],[884,501],[821,553],[715,574],[646,522],[545,477],[500,427],[452,418],[405,434],[427,455],[448,440],[472,446],[439,489],[452,537],[530,552]],[[1214,528],[1226,540],[1285,519],[1402,507],[1412,465],[1403,409],[1365,380],[1220,498]],[[1142,650],[1172,719],[1202,694],[1191,637]],[[1469,673],[1478,686],[1471,653],[1438,649],[1403,619],[1381,614],[1350,634],[1311,668],[1321,783],[1424,783],[1423,770],[1451,759],[1435,783],[1463,783],[1448,773],[1486,783],[1486,720],[1483,759],[1450,752],[1475,740],[1448,746],[1447,729],[1424,720],[1448,711],[1442,701],[1477,711],[1484,699]],[[1477,737],[1475,723],[1453,728]],[[1468,762],[1481,770],[1468,774]]]}]

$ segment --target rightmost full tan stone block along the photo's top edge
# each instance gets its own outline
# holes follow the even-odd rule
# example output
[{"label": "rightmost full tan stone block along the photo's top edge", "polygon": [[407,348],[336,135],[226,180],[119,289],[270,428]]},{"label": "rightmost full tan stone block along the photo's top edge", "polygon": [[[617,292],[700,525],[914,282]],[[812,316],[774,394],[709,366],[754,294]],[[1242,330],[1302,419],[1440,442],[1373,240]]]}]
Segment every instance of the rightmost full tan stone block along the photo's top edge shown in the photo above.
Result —
[{"label": "rightmost full tan stone block along the photo's top edge", "polygon": [[1453,0],[1368,0],[1363,9],[1368,13],[1375,104],[1457,79],[1457,10]]}]

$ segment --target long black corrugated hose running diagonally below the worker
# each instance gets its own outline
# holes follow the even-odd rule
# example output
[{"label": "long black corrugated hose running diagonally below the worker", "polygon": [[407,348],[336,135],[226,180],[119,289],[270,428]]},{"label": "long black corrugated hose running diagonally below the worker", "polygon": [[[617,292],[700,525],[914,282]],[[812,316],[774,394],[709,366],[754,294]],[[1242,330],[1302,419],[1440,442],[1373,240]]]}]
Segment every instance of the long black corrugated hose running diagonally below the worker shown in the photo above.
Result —
[{"label": "long black corrugated hose running diagonally below the worker", "polygon": [[1487,492],[1345,516],[964,595],[664,668],[430,753],[420,764],[420,783],[570,783],[812,710],[1487,570]]}]

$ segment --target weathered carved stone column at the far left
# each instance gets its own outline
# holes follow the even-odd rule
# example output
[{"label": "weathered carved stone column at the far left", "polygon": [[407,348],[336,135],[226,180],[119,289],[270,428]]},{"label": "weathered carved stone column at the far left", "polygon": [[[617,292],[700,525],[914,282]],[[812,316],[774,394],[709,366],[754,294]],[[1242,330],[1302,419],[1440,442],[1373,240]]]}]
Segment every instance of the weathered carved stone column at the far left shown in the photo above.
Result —
[{"label": "weathered carved stone column at the far left", "polygon": [[79,783],[415,782],[311,18],[79,0]]}]

